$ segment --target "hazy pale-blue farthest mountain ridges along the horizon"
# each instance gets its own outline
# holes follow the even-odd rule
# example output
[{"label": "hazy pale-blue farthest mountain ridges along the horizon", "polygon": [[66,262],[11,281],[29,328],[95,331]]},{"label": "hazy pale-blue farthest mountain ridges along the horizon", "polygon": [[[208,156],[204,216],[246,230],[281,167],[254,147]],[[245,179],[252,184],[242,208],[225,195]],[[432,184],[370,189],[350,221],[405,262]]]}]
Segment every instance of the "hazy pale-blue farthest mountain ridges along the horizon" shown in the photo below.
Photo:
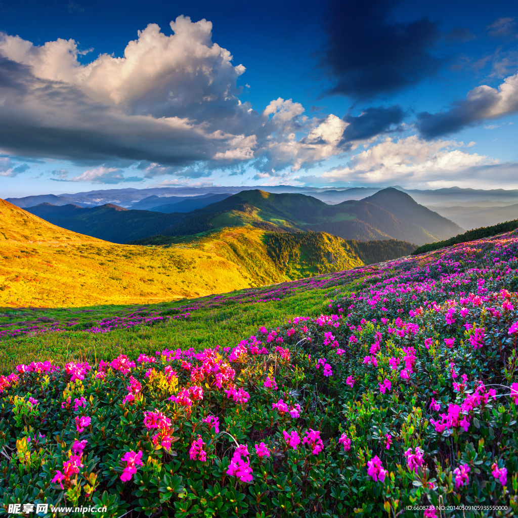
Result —
[{"label": "hazy pale-blue farthest mountain ridges along the horizon", "polygon": [[[518,207],[499,210],[500,207],[518,205],[518,190],[462,189],[450,187],[435,190],[394,189],[409,194],[417,203],[438,212],[463,228],[494,225],[518,217]],[[160,187],[150,189],[108,189],[67,194],[42,194],[23,198],[7,198],[7,201],[22,208],[35,207],[41,203],[56,206],[73,204],[79,207],[100,207],[107,204],[126,209],[152,210],[157,212],[190,212],[242,191],[262,190],[273,194],[305,194],[320,199],[328,205],[345,201],[361,200],[385,189],[381,187],[314,188],[308,186],[222,186],[222,187]],[[214,196],[221,196],[215,198]],[[192,203],[191,203],[192,202]],[[178,204],[182,205],[178,205]],[[172,207],[171,205],[176,205]]]}]

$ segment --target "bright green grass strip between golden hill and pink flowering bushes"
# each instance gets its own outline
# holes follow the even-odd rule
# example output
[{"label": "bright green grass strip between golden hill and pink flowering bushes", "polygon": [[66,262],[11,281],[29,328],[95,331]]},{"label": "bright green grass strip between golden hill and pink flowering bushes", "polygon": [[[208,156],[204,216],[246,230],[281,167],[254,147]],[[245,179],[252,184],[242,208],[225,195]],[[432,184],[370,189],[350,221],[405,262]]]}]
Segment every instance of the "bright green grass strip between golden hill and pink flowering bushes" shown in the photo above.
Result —
[{"label": "bright green grass strip between golden hill and pink flowering bushes", "polygon": [[[341,286],[343,291],[343,287]],[[239,292],[228,294],[236,295]],[[111,360],[119,354],[137,358],[140,353],[152,354],[163,349],[203,349],[205,347],[235,347],[240,340],[257,333],[258,327],[282,324],[295,316],[318,316],[336,286],[311,289],[287,296],[280,301],[267,303],[230,304],[218,309],[200,309],[192,313],[191,321],[170,320],[164,324],[141,329],[114,329],[108,333],[50,332],[33,337],[20,336],[0,339],[0,373],[9,373],[18,364],[33,361],[52,361],[64,365],[70,361]],[[195,300],[189,301],[194,303]],[[186,301],[183,300],[182,304]],[[150,311],[166,311],[176,304],[147,305]],[[67,322],[87,323],[123,315],[142,306],[94,306],[74,310],[38,309],[30,311],[4,311],[0,324],[21,319],[47,317]],[[77,313],[93,309],[88,313]]]}]

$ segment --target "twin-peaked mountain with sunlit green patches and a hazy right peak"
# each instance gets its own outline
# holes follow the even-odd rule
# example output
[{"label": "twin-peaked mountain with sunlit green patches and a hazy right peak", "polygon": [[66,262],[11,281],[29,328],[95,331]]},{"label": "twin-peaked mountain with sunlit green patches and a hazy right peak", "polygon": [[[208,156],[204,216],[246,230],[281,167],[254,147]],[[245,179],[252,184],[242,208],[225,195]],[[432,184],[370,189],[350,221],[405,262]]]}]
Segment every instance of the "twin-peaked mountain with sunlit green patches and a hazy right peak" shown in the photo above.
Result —
[{"label": "twin-peaked mountain with sunlit green patches and a hazy right peak", "polygon": [[[394,211],[394,212],[393,212]],[[315,231],[362,241],[399,239],[423,244],[449,238],[463,229],[387,188],[363,200],[326,205],[304,194],[243,191],[186,214],[165,235],[188,235],[223,226],[251,225],[284,232]]]}]

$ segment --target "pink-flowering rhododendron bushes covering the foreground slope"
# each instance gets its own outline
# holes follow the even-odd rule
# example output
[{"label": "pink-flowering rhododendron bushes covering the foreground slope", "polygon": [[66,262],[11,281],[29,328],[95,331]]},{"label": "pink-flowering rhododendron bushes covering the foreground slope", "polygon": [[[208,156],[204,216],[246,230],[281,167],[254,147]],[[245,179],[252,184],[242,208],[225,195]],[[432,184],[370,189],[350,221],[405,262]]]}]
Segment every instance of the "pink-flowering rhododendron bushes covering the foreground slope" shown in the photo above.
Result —
[{"label": "pink-flowering rhododendron bushes covering the foreground slope", "polygon": [[516,515],[517,256],[511,233],[355,271],[233,348],[19,365],[0,513]]}]

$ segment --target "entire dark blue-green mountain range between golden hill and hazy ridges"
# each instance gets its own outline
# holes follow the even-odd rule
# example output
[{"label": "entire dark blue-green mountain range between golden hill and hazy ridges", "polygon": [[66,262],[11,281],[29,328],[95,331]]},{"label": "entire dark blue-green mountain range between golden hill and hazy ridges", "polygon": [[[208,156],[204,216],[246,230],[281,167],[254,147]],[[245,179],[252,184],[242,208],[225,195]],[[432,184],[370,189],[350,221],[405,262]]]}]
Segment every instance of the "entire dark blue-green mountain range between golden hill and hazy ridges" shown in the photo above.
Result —
[{"label": "entire dark blue-green mountain range between golden hill and hazy ridges", "polygon": [[[172,208],[186,203],[203,204],[215,196],[222,195],[183,199]],[[148,199],[146,203],[154,204],[159,199]],[[327,205],[304,194],[247,190],[189,212],[166,214],[157,212],[160,207],[130,210],[113,204],[82,208],[75,204],[55,206],[44,203],[26,210],[71,231],[116,243],[153,235],[194,235],[235,226],[251,226],[271,232],[326,232],[343,239],[361,241],[397,239],[418,245],[463,232],[463,228],[394,188],[336,205]]]}]

